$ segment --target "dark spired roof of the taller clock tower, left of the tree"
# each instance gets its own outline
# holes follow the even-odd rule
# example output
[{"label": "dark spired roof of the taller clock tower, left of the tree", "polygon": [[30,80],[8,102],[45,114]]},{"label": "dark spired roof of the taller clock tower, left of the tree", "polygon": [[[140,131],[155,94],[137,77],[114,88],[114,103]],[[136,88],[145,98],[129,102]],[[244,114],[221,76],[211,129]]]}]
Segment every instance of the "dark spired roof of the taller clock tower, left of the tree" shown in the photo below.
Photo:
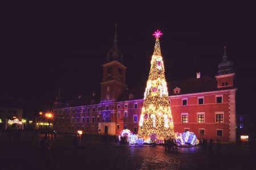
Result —
[{"label": "dark spired roof of the taller clock tower, left of the tree", "polygon": [[113,47],[109,50],[108,55],[107,55],[107,62],[117,60],[122,63],[123,61],[123,54],[119,50],[117,46],[117,24],[115,24],[115,33],[114,33],[114,45]]}]

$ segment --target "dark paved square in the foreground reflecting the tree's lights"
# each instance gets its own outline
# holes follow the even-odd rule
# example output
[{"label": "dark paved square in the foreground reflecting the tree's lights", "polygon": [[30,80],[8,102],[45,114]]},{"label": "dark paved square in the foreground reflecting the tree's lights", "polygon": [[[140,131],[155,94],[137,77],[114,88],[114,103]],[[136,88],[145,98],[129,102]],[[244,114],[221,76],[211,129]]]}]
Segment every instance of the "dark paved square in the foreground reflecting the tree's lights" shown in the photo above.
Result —
[{"label": "dark paved square in the foreground reflecting the tree's lights", "polygon": [[163,146],[129,146],[85,135],[73,146],[75,135],[58,134],[40,146],[42,134],[0,132],[0,170],[13,169],[256,169],[255,153],[247,143],[200,146],[164,151]]}]

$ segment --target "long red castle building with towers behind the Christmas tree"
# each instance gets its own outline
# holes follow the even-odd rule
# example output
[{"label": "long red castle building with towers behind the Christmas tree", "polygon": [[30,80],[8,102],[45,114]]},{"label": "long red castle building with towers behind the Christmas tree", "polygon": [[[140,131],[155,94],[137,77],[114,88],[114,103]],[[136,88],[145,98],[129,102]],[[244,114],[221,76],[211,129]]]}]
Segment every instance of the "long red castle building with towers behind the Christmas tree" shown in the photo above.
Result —
[{"label": "long red castle building with towers behind the Christmas tree", "polygon": [[[102,64],[101,94],[79,96],[63,102],[56,97],[54,112],[57,131],[101,135],[119,135],[124,129],[138,134],[146,87],[127,89],[126,66],[117,45],[117,26],[114,45]],[[168,65],[166,65],[168,67]],[[214,78],[196,73],[193,78],[167,82],[175,132],[191,131],[197,138],[236,142],[236,90],[233,63],[228,60],[226,47]]]}]

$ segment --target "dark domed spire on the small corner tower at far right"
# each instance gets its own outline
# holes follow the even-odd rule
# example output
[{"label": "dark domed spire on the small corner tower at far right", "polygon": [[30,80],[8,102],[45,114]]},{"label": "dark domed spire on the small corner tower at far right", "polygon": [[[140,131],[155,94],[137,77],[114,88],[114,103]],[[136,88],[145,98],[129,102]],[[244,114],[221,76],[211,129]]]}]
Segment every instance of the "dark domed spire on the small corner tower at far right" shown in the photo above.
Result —
[{"label": "dark domed spire on the small corner tower at far right", "polygon": [[224,45],[224,53],[222,61],[218,64],[218,75],[233,73],[233,62],[228,60],[226,55],[226,45]]}]

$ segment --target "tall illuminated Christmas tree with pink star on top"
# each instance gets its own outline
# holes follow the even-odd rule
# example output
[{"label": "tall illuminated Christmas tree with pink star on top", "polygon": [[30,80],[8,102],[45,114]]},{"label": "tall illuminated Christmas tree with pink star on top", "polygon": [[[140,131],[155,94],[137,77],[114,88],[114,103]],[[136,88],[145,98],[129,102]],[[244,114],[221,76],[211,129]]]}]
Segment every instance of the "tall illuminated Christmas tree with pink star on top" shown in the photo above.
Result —
[{"label": "tall illuminated Christmas tree with pink star on top", "polygon": [[144,92],[138,137],[145,143],[162,143],[164,139],[173,139],[175,134],[159,43],[162,33],[157,30],[153,35],[156,38],[155,49]]}]

